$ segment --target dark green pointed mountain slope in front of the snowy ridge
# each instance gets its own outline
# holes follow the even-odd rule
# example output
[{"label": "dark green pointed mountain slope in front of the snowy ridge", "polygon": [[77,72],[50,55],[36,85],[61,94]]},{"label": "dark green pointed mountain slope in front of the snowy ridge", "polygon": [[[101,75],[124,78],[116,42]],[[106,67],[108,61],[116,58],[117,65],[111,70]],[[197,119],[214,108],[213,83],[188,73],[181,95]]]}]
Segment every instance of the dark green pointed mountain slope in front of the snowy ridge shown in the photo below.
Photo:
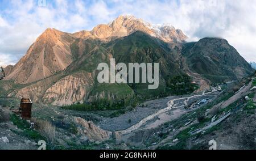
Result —
[{"label": "dark green pointed mountain slope in front of the snowy ridge", "polygon": [[[134,91],[143,97],[151,98],[164,93],[169,75],[180,75],[180,54],[167,43],[146,33],[137,31],[129,36],[106,44],[117,63],[159,63],[159,88],[148,90],[148,83],[129,83]],[[129,77],[129,75],[128,75]],[[142,73],[140,73],[142,77]]]}]

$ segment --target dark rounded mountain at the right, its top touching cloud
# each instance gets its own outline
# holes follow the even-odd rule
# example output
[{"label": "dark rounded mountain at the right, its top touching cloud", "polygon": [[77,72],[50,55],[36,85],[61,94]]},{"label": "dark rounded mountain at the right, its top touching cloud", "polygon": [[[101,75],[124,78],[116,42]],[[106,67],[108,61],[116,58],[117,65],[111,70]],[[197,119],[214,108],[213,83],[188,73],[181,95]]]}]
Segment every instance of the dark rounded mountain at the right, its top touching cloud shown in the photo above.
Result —
[{"label": "dark rounded mountain at the right, its top touching cloud", "polygon": [[224,39],[204,38],[184,44],[183,56],[189,69],[212,82],[240,79],[254,71]]}]

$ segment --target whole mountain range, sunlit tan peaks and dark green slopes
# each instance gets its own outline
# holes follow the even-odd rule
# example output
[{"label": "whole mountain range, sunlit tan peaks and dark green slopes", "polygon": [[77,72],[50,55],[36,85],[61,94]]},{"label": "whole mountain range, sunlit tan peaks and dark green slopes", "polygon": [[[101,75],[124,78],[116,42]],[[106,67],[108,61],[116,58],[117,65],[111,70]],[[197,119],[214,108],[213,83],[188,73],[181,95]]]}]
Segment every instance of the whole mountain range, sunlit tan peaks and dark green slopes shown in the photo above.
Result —
[{"label": "whole mountain range, sunlit tan peaks and dark green slopes", "polygon": [[[254,73],[228,41],[206,37],[186,43],[186,39],[180,29],[154,26],[131,15],[121,15],[92,31],[67,33],[48,28],[16,65],[5,68],[0,95],[52,105],[134,95],[152,98],[163,95],[168,79],[177,75],[187,74],[207,88]],[[97,65],[109,63],[110,58],[117,63],[158,62],[158,90],[147,90],[143,83],[99,84]]]}]

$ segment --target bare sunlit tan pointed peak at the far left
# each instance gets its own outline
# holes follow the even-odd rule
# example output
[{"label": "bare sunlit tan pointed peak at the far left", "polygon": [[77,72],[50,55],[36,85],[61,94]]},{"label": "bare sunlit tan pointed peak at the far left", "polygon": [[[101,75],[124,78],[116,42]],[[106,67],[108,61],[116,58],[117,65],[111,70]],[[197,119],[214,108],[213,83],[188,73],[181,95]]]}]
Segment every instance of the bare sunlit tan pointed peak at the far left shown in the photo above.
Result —
[{"label": "bare sunlit tan pointed peak at the far left", "polygon": [[9,71],[5,80],[26,84],[64,70],[72,62],[70,45],[74,40],[69,33],[48,28]]}]

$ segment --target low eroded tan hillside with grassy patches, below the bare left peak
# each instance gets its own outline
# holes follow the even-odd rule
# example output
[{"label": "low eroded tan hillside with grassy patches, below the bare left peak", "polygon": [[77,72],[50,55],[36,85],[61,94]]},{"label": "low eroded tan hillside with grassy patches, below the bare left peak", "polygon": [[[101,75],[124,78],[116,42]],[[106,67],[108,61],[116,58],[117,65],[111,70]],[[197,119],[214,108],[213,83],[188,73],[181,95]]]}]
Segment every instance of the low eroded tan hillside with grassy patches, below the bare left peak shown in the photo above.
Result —
[{"label": "low eroded tan hillside with grassy patches, below the bare left peak", "polygon": [[[93,77],[94,74],[84,71],[68,76],[62,73],[55,74],[29,86],[18,88],[8,96],[31,98],[35,103],[51,105],[83,103],[93,87]],[[7,86],[7,84],[4,85]]]}]

